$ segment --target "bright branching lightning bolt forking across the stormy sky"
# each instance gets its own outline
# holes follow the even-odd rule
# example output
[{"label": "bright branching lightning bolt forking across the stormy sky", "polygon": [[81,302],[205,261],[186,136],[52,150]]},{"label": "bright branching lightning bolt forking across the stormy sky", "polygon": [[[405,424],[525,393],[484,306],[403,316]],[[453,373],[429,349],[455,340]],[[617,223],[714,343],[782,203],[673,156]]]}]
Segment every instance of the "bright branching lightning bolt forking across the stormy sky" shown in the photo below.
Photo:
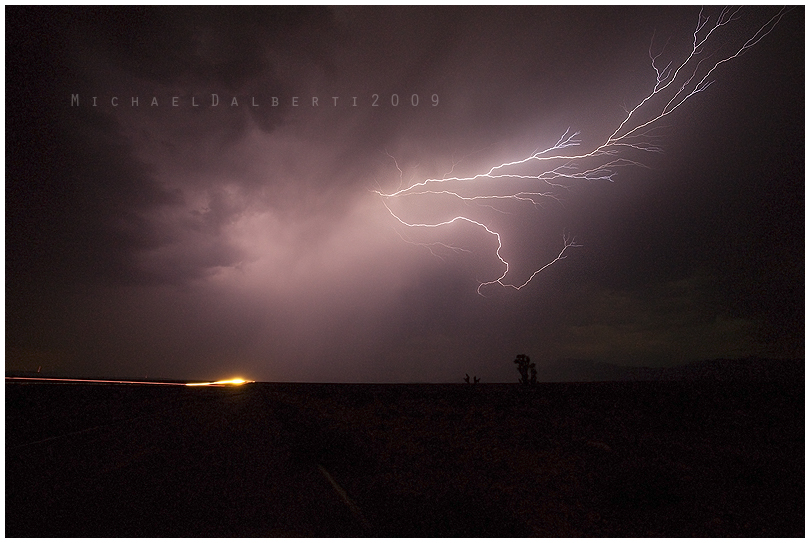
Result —
[{"label": "bright branching lightning bolt forking across the stormy sky", "polygon": [[[655,83],[634,107],[625,108],[626,115],[616,125],[615,130],[589,151],[571,152],[579,148],[582,142],[579,139],[580,133],[569,128],[556,143],[545,149],[535,150],[529,156],[497,164],[487,171],[469,177],[454,176],[453,171],[460,161],[453,162],[453,168],[441,178],[418,182],[413,182],[413,179],[406,182],[404,171],[396,159],[386,151],[386,155],[394,160],[399,171],[399,187],[394,192],[383,192],[381,189],[373,192],[380,197],[395,221],[405,229],[441,229],[454,223],[467,223],[483,230],[496,242],[494,256],[500,262],[503,271],[497,278],[479,281],[478,293],[483,295],[482,289],[490,285],[520,290],[540,272],[566,258],[571,248],[580,245],[571,235],[563,234],[562,248],[554,258],[535,269],[523,282],[514,281],[510,276],[510,264],[501,253],[502,234],[491,224],[474,218],[476,216],[474,211],[486,208],[509,213],[504,207],[506,204],[537,208],[548,199],[559,201],[559,191],[570,188],[573,183],[613,182],[621,168],[644,167],[638,158],[639,155],[662,152],[662,148],[656,144],[659,137],[655,133],[655,128],[661,121],[677,111],[690,98],[708,89],[714,82],[713,75],[723,64],[740,57],[759,43],[770,34],[788,11],[788,8],[780,9],[741,46],[730,52],[719,55],[717,50],[710,51],[719,49],[719,46],[714,44],[717,41],[716,36],[723,27],[739,18],[741,9],[723,8],[716,17],[712,17],[705,15],[701,8],[692,34],[691,51],[677,63],[671,61],[665,66],[660,65],[668,42],[661,51],[655,53],[653,35],[648,55],[655,73]],[[716,55],[718,58],[712,58]],[[450,199],[456,201],[466,211],[458,214],[451,211],[447,218],[432,222],[407,220],[402,211],[395,211],[395,208],[402,207],[405,200],[415,201],[418,198],[434,206],[442,205],[444,199]],[[416,243],[406,239],[401,233],[400,236],[408,243]],[[435,247],[455,252],[466,251],[440,242],[417,244],[427,247],[437,256],[439,255],[434,250]]]}]

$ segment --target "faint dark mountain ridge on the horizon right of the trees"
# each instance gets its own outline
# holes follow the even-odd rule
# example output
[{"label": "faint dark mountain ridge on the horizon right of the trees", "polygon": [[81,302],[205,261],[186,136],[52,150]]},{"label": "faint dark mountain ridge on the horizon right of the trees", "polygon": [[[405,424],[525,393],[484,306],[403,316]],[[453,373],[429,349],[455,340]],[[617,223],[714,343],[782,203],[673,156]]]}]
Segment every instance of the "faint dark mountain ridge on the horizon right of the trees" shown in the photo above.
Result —
[{"label": "faint dark mountain ridge on the horizon right of the trees", "polygon": [[718,358],[681,366],[618,366],[593,360],[561,359],[537,363],[537,380],[577,381],[783,381],[804,382],[803,359]]}]

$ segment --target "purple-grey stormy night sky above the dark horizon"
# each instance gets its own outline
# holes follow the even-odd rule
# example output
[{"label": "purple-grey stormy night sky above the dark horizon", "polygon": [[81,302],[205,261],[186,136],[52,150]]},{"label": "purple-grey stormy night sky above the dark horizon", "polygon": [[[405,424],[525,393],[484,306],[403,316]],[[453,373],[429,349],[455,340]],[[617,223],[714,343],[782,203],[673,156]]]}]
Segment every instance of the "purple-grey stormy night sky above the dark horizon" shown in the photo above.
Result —
[{"label": "purple-grey stormy night sky above the dark horizon", "polygon": [[[698,68],[778,11],[744,8]],[[612,181],[454,186],[537,205],[379,194],[566,131],[593,151],[699,13],[7,7],[6,370],[515,382],[519,353],[803,357],[802,6],[648,127],[662,152],[616,148],[639,165]],[[499,232],[504,283],[579,246],[479,289],[504,272],[493,235],[386,205]]]}]

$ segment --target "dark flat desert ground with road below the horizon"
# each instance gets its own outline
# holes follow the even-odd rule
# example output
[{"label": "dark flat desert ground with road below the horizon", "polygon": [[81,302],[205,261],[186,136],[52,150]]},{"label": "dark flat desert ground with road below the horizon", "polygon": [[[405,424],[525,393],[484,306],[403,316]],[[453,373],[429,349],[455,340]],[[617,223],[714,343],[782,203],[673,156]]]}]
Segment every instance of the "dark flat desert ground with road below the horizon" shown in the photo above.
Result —
[{"label": "dark flat desert ground with road below the horizon", "polygon": [[804,536],[804,384],[6,385],[6,535]]}]

